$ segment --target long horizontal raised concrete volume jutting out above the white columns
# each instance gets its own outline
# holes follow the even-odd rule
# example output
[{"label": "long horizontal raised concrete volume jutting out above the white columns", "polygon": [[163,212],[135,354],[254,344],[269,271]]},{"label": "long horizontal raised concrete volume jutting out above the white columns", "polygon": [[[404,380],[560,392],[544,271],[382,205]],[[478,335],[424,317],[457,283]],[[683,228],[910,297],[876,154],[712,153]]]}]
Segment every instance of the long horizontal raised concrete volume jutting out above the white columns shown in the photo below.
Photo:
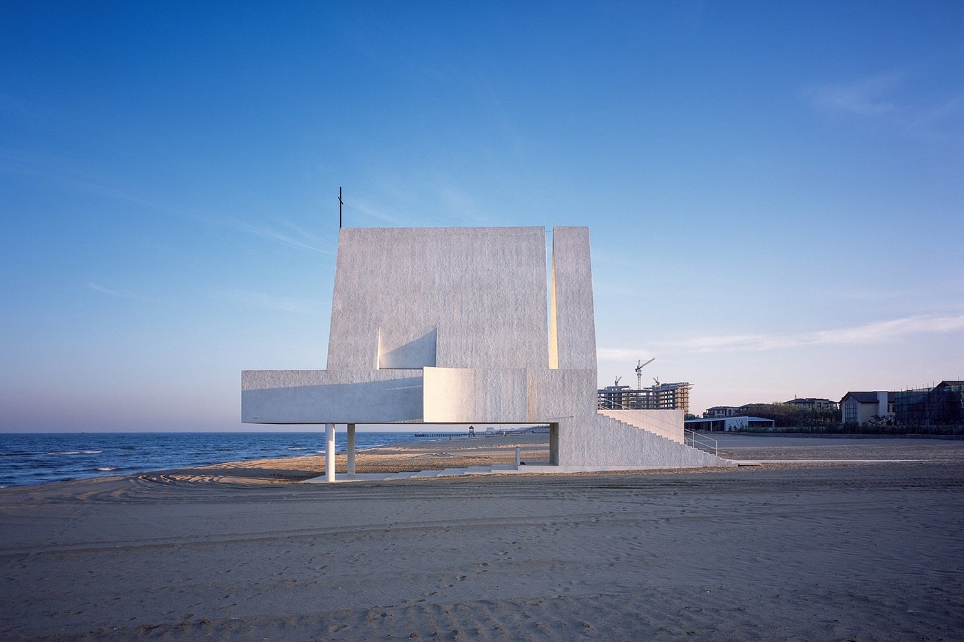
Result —
[{"label": "long horizontal raised concrete volume jutting out above the white columns", "polygon": [[245,370],[245,423],[537,423],[593,415],[593,370]]}]

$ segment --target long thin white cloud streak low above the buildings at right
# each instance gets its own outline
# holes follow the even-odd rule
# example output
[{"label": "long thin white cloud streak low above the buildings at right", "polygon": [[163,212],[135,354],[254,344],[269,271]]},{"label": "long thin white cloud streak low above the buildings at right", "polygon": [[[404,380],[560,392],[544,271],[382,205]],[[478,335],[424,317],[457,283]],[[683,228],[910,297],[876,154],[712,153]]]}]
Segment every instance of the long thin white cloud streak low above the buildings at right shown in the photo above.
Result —
[{"label": "long thin white cloud streak low above the buildings at right", "polygon": [[[964,331],[964,314],[915,314],[900,319],[821,330],[806,334],[726,334],[697,336],[682,341],[660,342],[651,348],[601,348],[599,358],[626,361],[653,352],[765,351],[810,345],[863,345],[882,343],[907,334],[941,334]],[[654,350],[656,348],[656,350]]]}]

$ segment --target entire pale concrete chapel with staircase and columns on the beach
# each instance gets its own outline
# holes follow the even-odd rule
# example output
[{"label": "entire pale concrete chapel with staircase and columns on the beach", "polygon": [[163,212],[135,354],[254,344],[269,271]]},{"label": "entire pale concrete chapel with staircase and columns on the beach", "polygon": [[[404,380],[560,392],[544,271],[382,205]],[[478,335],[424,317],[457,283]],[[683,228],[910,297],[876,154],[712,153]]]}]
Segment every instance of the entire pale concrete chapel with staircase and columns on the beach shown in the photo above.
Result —
[{"label": "entire pale concrete chapel with staircase and columns on the beach", "polygon": [[244,371],[242,421],[332,448],[336,423],[539,422],[562,469],[728,465],[682,412],[597,413],[588,228],[553,228],[550,261],[548,285],[543,227],[341,229],[327,368]]}]

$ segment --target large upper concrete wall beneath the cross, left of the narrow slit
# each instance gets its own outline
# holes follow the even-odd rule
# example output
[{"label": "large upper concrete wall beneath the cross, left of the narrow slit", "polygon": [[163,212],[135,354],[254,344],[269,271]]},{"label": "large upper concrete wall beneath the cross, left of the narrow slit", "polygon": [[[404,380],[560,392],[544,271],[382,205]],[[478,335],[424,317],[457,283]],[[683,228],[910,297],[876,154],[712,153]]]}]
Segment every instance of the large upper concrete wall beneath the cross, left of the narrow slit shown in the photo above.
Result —
[{"label": "large upper concrete wall beneath the cross, left of the narrow slit", "polygon": [[543,227],[344,227],[329,370],[546,367]]}]

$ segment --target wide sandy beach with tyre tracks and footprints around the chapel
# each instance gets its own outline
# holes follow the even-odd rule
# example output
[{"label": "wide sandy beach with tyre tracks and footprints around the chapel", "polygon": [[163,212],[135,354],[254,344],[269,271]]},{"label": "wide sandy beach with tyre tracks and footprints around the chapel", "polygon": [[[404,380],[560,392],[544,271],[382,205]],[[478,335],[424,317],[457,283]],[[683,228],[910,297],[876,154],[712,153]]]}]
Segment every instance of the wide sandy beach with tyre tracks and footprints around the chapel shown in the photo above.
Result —
[{"label": "wide sandy beach with tyre tracks and footprints around the chapel", "polygon": [[[385,466],[538,461],[534,439]],[[0,637],[964,636],[964,441],[720,450],[850,461],[325,485],[291,458],[3,489]]]}]

